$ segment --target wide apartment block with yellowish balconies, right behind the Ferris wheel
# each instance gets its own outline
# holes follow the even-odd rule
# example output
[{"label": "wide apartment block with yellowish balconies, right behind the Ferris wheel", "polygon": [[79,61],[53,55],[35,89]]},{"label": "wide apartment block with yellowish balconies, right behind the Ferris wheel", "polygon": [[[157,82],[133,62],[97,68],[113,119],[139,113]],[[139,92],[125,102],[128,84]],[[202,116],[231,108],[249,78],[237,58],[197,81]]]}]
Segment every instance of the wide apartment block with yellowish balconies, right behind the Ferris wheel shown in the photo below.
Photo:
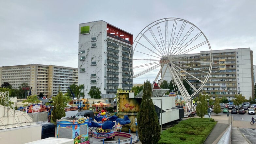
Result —
[{"label": "wide apartment block with yellowish balconies, right behind the Ferris wheel", "polygon": [[[234,99],[235,94],[242,94],[249,100],[251,97],[254,100],[254,68],[253,56],[250,48],[226,49],[212,51],[213,65],[210,77],[201,92],[211,94],[213,99],[216,96]],[[193,61],[207,61],[210,54],[205,54],[205,51],[194,56],[186,57],[190,63],[191,69],[187,72],[193,76],[203,80],[205,75],[201,71],[209,71],[209,64],[201,65],[194,64]],[[199,88],[201,83],[195,80],[189,74],[186,74],[186,79],[195,87]],[[171,75],[167,72],[164,80],[171,80]],[[193,90],[193,89],[191,89]]]}]

